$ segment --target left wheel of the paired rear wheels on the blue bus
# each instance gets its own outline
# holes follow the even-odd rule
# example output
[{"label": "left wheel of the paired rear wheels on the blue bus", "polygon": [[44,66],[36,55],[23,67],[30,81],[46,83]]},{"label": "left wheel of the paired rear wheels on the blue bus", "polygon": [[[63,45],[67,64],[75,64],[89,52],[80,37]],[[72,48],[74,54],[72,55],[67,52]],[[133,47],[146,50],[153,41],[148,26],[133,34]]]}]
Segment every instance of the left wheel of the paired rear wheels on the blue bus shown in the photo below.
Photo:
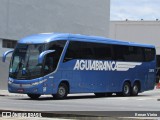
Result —
[{"label": "left wheel of the paired rear wheels on the blue bus", "polygon": [[123,96],[130,96],[131,95],[131,86],[128,82],[125,82],[123,84],[122,95]]}]

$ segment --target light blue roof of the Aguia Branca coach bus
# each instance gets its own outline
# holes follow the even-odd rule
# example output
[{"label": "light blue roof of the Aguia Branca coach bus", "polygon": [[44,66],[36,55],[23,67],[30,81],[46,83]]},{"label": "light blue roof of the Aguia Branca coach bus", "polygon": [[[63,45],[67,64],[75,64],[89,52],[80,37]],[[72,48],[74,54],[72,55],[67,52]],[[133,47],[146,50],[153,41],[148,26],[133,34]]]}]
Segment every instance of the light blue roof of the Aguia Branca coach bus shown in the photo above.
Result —
[{"label": "light blue roof of the Aguia Branca coach bus", "polygon": [[140,44],[134,42],[126,42],[120,40],[113,40],[110,38],[99,37],[99,36],[87,36],[80,34],[69,34],[69,33],[40,33],[25,37],[18,41],[22,44],[40,44],[40,43],[49,43],[55,40],[74,40],[74,41],[84,41],[84,42],[94,42],[94,43],[108,43],[108,44],[120,44],[120,45],[129,45],[129,46],[141,46],[141,47],[152,47],[154,45],[149,44]]}]

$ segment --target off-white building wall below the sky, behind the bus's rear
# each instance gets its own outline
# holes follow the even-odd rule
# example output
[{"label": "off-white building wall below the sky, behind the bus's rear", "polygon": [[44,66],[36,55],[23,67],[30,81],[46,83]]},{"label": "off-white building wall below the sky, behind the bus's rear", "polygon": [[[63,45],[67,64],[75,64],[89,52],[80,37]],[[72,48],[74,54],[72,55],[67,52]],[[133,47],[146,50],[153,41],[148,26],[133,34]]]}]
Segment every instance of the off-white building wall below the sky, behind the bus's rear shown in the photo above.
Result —
[{"label": "off-white building wall below the sky, behind the bus's rear", "polygon": [[160,55],[160,21],[111,21],[110,38],[153,44]]}]

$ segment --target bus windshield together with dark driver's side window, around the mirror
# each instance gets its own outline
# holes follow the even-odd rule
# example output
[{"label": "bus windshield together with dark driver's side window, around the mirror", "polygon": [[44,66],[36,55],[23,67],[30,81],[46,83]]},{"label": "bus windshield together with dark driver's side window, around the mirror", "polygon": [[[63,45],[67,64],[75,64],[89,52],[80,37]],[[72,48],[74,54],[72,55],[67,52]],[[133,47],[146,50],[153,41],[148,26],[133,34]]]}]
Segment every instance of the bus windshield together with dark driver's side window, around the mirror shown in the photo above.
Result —
[{"label": "bus windshield together with dark driver's side window, around the mirror", "polygon": [[[9,77],[30,80],[42,77],[56,70],[66,41],[48,44],[18,44],[12,56]],[[39,55],[45,50],[55,50],[45,56],[44,63],[38,64]]]}]

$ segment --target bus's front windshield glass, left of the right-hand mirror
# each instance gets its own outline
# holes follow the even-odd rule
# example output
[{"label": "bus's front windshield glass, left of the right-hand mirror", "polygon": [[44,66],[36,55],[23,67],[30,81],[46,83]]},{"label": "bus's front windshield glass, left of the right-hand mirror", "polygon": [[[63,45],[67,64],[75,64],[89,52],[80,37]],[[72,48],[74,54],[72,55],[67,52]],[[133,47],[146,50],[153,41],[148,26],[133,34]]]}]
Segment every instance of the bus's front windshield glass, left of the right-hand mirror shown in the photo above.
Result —
[{"label": "bus's front windshield glass, left of the right-hand mirror", "polygon": [[41,76],[42,66],[38,56],[44,51],[44,44],[18,44],[12,56],[9,77],[34,79]]}]

